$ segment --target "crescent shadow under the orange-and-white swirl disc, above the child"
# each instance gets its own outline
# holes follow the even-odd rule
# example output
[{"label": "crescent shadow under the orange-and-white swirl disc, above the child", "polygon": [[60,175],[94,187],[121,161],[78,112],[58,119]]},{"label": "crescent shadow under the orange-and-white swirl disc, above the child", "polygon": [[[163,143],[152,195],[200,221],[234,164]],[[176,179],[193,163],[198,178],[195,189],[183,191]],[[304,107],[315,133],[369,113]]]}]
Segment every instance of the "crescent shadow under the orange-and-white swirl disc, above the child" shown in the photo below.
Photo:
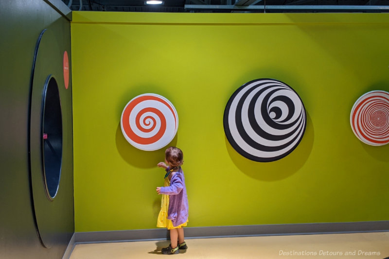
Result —
[{"label": "crescent shadow under the orange-and-white swirl disc, above the child", "polygon": [[[177,138],[178,133],[166,148],[169,146],[176,146]],[[161,148],[155,151],[143,151],[132,146],[123,136],[120,121],[116,129],[116,148],[124,161],[138,168],[155,168],[165,157],[166,150],[166,148]]]}]

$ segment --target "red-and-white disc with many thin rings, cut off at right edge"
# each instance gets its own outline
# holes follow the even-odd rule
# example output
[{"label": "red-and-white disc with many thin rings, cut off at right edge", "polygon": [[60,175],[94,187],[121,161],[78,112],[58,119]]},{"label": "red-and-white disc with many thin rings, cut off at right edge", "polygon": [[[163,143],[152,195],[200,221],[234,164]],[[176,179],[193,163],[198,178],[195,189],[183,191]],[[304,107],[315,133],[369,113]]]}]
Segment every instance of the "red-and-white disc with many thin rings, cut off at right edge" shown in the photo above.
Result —
[{"label": "red-and-white disc with many thin rings, cut off at right edge", "polygon": [[382,146],[389,142],[389,93],[368,92],[356,100],[350,114],[350,124],[359,140]]}]

